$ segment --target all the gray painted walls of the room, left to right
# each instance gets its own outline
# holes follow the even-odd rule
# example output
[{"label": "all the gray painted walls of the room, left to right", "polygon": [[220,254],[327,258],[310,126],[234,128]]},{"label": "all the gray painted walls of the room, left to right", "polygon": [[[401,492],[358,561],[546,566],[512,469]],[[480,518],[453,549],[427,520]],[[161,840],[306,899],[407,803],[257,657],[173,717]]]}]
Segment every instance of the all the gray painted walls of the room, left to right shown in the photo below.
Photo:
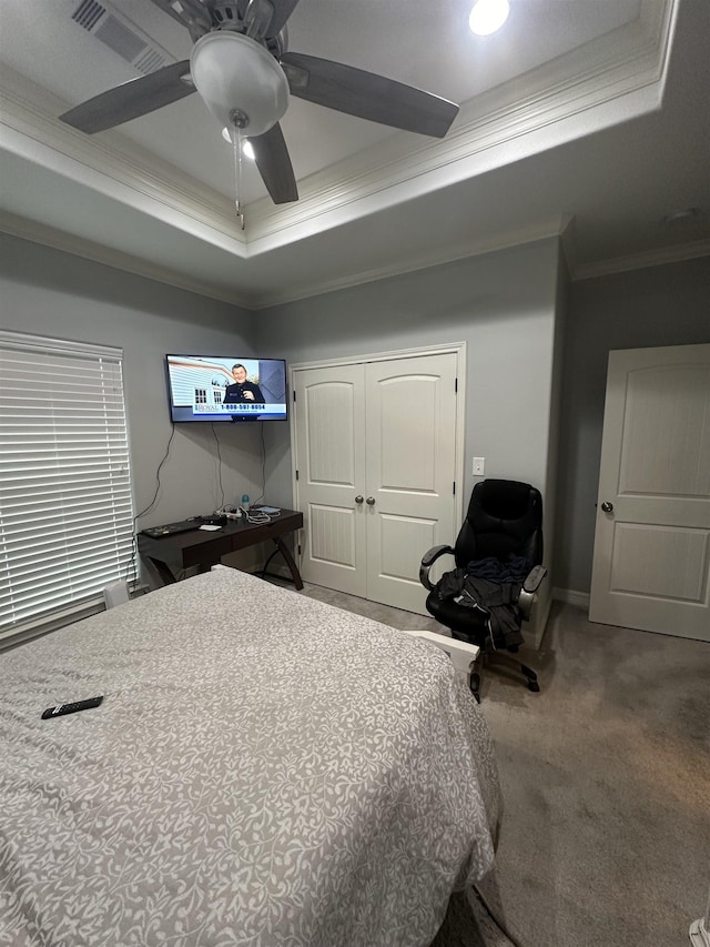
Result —
[{"label": "all the gray painted walls of the room, left to right", "polygon": [[[558,319],[552,326],[555,309],[568,311],[566,324]],[[293,361],[315,361],[466,341],[465,490],[474,483],[473,455],[487,459],[487,475],[515,472],[541,482],[557,497],[556,528],[548,536],[548,545],[556,544],[555,585],[588,592],[608,351],[710,341],[710,261],[568,289],[556,241],[542,241],[278,306],[255,320],[235,306],[2,236],[0,321],[7,329],[123,347],[136,510],[153,496],[171,433],[166,352],[210,354],[229,346],[248,355],[264,347]],[[528,431],[527,409],[536,404],[548,405],[549,420],[536,411]],[[549,463],[537,453],[532,460],[526,441],[545,429]],[[243,492],[253,496],[262,482],[258,432],[224,425],[217,436],[226,502]],[[292,496],[286,425],[266,427],[265,440],[266,496],[285,505]],[[161,482],[159,505],[143,526],[216,504],[217,450],[210,426],[178,425]]]}]

